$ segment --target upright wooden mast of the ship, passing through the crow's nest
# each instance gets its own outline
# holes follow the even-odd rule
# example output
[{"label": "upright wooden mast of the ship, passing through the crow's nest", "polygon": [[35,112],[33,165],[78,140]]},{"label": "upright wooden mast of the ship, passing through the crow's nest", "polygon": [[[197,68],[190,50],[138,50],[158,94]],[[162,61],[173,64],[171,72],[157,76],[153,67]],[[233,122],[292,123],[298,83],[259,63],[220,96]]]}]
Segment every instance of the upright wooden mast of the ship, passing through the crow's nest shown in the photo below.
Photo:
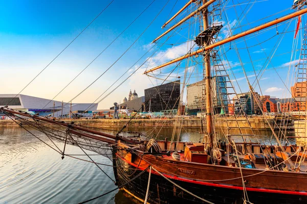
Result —
[{"label": "upright wooden mast of the ship, passing through the crow's nest", "polygon": [[[207,3],[207,0],[203,0],[203,5]],[[203,29],[206,31],[209,28],[208,22],[208,9],[203,10]],[[210,44],[210,38],[204,40],[203,46],[206,47]],[[204,79],[205,79],[205,88],[206,88],[206,125],[207,125],[207,136],[209,138],[209,146],[213,146],[213,130],[212,130],[212,104],[211,104],[211,66],[210,66],[210,50],[205,51],[204,55],[204,62],[205,62],[205,70],[204,70]]]}]

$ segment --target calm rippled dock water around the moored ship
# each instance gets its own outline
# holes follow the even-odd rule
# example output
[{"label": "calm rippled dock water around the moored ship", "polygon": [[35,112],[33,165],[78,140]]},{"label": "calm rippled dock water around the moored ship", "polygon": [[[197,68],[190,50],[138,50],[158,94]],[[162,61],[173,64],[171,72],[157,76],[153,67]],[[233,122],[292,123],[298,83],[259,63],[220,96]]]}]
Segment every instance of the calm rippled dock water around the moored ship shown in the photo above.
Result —
[{"label": "calm rippled dock water around the moored ship", "polygon": [[[127,129],[171,137],[172,128]],[[182,141],[198,141],[198,129],[183,129]],[[53,145],[50,140],[38,131],[31,132]],[[269,142],[271,134],[259,133],[260,141]],[[239,139],[239,138],[237,138]],[[251,138],[254,142],[254,138]],[[294,140],[292,140],[294,142]],[[62,143],[56,143],[63,148]],[[80,148],[68,145],[68,154],[80,155]],[[87,151],[89,152],[89,151]],[[92,158],[99,163],[112,165],[111,161],[102,156]],[[86,156],[79,156],[88,159]],[[101,168],[114,179],[113,168]],[[116,188],[114,183],[104,175],[93,163],[65,157],[33,137],[21,127],[0,128],[0,204],[2,203],[78,203]],[[123,192],[114,191],[91,203],[135,203]]]}]

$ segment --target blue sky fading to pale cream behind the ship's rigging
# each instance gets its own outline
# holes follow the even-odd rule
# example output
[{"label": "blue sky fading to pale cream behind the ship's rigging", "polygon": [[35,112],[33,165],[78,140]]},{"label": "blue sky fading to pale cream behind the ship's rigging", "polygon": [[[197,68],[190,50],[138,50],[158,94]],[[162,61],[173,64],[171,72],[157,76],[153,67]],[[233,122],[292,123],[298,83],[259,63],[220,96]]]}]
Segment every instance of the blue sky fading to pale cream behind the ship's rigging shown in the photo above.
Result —
[{"label": "blue sky fading to pale cream behind the ship's rigging", "polygon": [[[0,71],[3,74],[1,77],[2,89],[0,93],[18,93],[23,89],[24,86],[26,86],[40,70],[49,64],[50,61],[82,31],[109,2],[111,1],[1,1]],[[111,43],[112,40],[150,4],[150,2],[151,1],[132,2],[115,0],[75,42],[73,42],[22,92],[22,94],[53,98],[109,43]],[[80,75],[80,77],[55,99],[68,101],[91,84],[92,81],[111,66],[139,37],[166,2],[167,1],[156,0],[148,10],[123,33],[123,35],[121,35]],[[254,5],[246,5],[245,3],[248,2],[254,1],[229,1],[228,5],[226,5],[225,12],[228,18],[226,19],[224,15],[223,18],[220,19],[224,23],[224,34],[222,34],[222,37],[225,37],[229,31],[226,26],[228,23],[230,23],[233,28],[236,28],[233,30],[234,33],[239,33],[241,32],[241,28],[237,27],[239,27],[240,24],[245,25],[242,27],[244,31],[260,23],[293,12],[289,9],[292,5],[292,1],[290,0],[283,1],[282,4],[280,4],[280,1],[258,0]],[[92,103],[109,87],[109,85],[116,81],[123,72],[141,58],[151,46],[150,42],[161,34],[161,26],[163,23],[170,15],[176,13],[186,1],[178,1],[176,5],[175,3],[176,1],[169,1],[157,19],[128,52],[93,86],[77,97],[74,102]],[[236,6],[234,10],[232,7],[233,4],[240,5]],[[242,15],[240,16],[242,9],[245,9],[244,13],[246,16],[244,18]],[[188,11],[191,10],[193,10],[193,8],[189,7],[184,14],[186,15]],[[286,11],[273,15],[283,10]],[[270,15],[273,16],[264,20],[259,20]],[[242,19],[241,21],[237,21],[238,16]],[[193,22],[193,20],[195,21],[195,18],[187,22]],[[195,32],[195,30],[198,29],[195,29],[193,25],[190,27],[188,27],[188,25],[188,23],[185,23],[180,30],[177,30],[178,33],[176,36],[167,40],[167,43],[173,43],[175,45],[171,46],[166,44],[155,54],[149,52],[139,63],[137,63],[137,65],[144,62],[151,54],[153,54],[153,57],[150,62],[156,62],[157,65],[173,57],[184,55],[188,48],[187,43],[185,43],[185,41],[188,40],[186,39],[188,31],[190,31],[188,36],[189,39],[192,39],[194,35],[198,33],[198,31]],[[281,33],[287,25],[288,24],[280,24],[277,28],[279,33]],[[287,31],[295,30],[295,26],[294,20],[289,25]],[[259,34],[257,38],[251,38],[246,41],[248,46],[252,46],[249,48],[249,52],[256,70],[261,69],[265,64],[267,55],[272,52],[278,37],[281,35],[273,37],[275,34],[276,28]],[[297,59],[297,57],[291,59],[293,35],[293,32],[284,35],[275,53],[275,57],[267,67],[267,69],[270,70],[264,73],[260,81],[262,93],[275,95],[277,97],[286,96],[284,93],[286,88],[272,68],[278,68],[277,71],[282,80],[286,81],[289,68],[287,67],[287,63]],[[161,39],[160,42],[165,40],[166,37]],[[260,46],[256,45],[258,44],[257,42],[263,43],[261,43]],[[157,48],[158,45],[160,44],[157,44],[154,48]],[[227,52],[226,56],[229,61],[227,64],[232,66],[242,91],[247,91],[248,87],[246,86],[246,80],[243,78],[244,75],[242,67],[240,66],[240,60],[248,72],[247,74],[251,82],[253,82],[255,77],[253,76],[253,67],[251,66],[247,50],[243,49],[246,47],[245,42],[242,40],[236,41],[241,59],[238,58],[234,49],[234,44],[226,44],[224,47],[225,50],[228,50],[230,46],[232,49]],[[267,55],[265,55],[265,53],[267,53]],[[187,61],[187,63],[189,62]],[[150,65],[153,66],[153,64]],[[176,73],[183,76],[185,66],[185,62],[181,63],[181,68],[179,68]],[[138,66],[133,67],[133,70],[137,67]],[[171,66],[167,67],[163,72],[167,72],[172,68]],[[127,80],[123,86],[102,100],[99,104],[99,108],[109,108],[113,105],[114,101],[119,103],[128,95],[130,89],[136,89],[139,96],[141,96],[144,95],[145,88],[158,85],[162,82],[146,77],[142,74],[144,70],[145,67],[142,67],[133,77]],[[201,67],[196,67],[195,70],[201,72]],[[131,72],[132,71],[129,71],[119,82],[122,82]],[[174,75],[176,75],[176,73],[174,72]],[[170,78],[170,80],[172,79],[176,78]],[[191,78],[189,83],[193,83],[196,80],[198,80],[198,78]],[[290,84],[291,82],[289,81],[288,86]],[[256,90],[259,91],[258,88],[256,88]]]}]

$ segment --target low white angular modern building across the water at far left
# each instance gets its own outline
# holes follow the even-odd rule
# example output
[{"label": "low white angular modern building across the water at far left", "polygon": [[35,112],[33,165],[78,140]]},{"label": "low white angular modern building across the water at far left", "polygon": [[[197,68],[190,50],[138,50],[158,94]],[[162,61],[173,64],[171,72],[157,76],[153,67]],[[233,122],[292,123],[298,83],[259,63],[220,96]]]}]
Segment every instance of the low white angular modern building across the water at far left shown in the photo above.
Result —
[{"label": "low white angular modern building across the water at far left", "polygon": [[[77,104],[77,103],[63,103],[56,100],[45,98],[38,98],[23,94],[0,94],[0,107],[8,105],[9,108],[26,111],[31,114],[39,114],[40,116],[53,116],[53,109],[55,110],[54,116],[69,117],[70,110],[77,113],[79,116],[90,117],[92,111],[97,110],[98,104]],[[85,112],[86,111],[86,112]]]}]

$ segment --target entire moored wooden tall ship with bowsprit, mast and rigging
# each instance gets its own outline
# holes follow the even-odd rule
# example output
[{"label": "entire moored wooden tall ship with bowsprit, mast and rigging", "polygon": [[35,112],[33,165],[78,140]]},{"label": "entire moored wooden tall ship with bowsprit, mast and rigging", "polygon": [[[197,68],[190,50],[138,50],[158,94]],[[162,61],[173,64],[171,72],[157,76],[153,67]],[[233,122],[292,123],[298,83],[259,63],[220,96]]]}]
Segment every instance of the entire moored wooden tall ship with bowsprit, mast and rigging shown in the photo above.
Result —
[{"label": "entire moored wooden tall ship with bowsprit, mast and rigging", "polygon": [[[167,28],[166,31],[152,43],[160,46],[163,44],[161,39],[176,35],[176,29],[183,26],[195,30],[197,25],[200,33],[195,36],[185,55],[152,66],[144,72],[149,77],[164,77],[165,83],[178,65],[186,62],[182,83],[182,86],[186,87],[187,71],[190,68],[188,60],[197,59],[198,66],[202,67],[202,72],[199,73],[202,92],[199,99],[202,110],[199,141],[180,140],[180,132],[184,130],[181,122],[183,118],[179,115],[169,137],[171,140],[159,140],[155,135],[148,137],[140,133],[124,132],[130,120],[113,135],[99,129],[14,110],[8,106],[2,107],[1,111],[29,133],[35,129],[51,141],[61,142],[63,147],[51,148],[58,151],[62,159],[69,156],[65,152],[65,145],[68,144],[80,147],[84,154],[85,150],[90,150],[109,158],[113,163],[114,183],[117,188],[143,203],[307,203],[306,144],[291,144],[286,136],[287,129],[280,127],[276,133],[279,124],[271,123],[268,125],[274,142],[271,140],[270,144],[265,144],[261,140],[261,136],[257,135],[249,122],[243,100],[238,99],[240,97],[234,85],[235,80],[230,78],[231,70],[225,65],[227,50],[223,48],[227,43],[232,43],[235,47],[237,40],[244,41],[269,29],[277,30],[278,24],[294,20],[297,27],[293,32],[296,43],[293,47],[301,47],[299,60],[295,64],[295,78],[298,83],[305,82],[307,27],[303,17],[307,13],[306,1],[294,1],[292,12],[288,15],[234,35],[229,32],[222,36],[224,27],[227,26],[231,30],[229,23],[225,24],[221,20],[223,11],[227,9],[227,2],[188,1],[165,22],[162,28]],[[276,4],[285,2],[275,1]],[[189,12],[183,15],[187,9]],[[248,11],[244,10],[238,20],[244,18],[246,12]],[[196,23],[193,24],[192,21]],[[282,37],[282,31],[278,33],[277,30],[276,35]],[[281,39],[277,39],[278,43]],[[246,46],[248,47],[247,44]],[[168,69],[168,66],[172,68]],[[164,69],[167,71],[161,71]],[[249,82],[244,69],[243,72],[248,82],[249,99],[253,100],[254,107],[258,107],[262,118],[268,121],[269,116],[264,112],[255,85]],[[260,80],[261,75],[257,75]],[[183,88],[182,96],[184,90]],[[182,98],[178,100],[180,109]],[[151,100],[147,102],[152,103]],[[230,115],[230,112],[231,116],[226,116]],[[304,121],[306,110],[300,109],[300,112],[303,114],[298,114],[298,121]],[[287,119],[286,116],[282,117]],[[218,122],[221,122],[218,118],[223,118],[227,128],[217,131]],[[296,127],[300,128],[300,133],[305,133],[304,122],[298,122]],[[251,142],[250,138],[257,142]],[[97,167],[101,165],[90,156],[89,161]]]}]

